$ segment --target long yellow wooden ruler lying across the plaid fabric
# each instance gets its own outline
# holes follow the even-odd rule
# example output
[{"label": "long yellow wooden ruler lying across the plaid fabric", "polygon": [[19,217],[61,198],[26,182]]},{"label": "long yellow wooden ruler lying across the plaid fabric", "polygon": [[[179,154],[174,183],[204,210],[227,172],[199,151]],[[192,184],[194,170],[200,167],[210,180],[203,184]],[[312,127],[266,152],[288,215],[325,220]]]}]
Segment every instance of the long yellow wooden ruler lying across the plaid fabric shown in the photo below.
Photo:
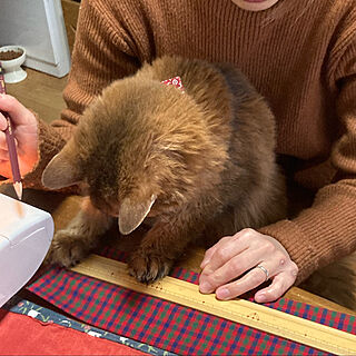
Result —
[{"label": "long yellow wooden ruler lying across the plaid fabric", "polygon": [[259,330],[337,355],[356,355],[356,336],[244,299],[221,301],[202,295],[197,285],[165,277],[144,285],[129,276],[127,265],[91,255],[71,270],[111,284],[212,314]]}]

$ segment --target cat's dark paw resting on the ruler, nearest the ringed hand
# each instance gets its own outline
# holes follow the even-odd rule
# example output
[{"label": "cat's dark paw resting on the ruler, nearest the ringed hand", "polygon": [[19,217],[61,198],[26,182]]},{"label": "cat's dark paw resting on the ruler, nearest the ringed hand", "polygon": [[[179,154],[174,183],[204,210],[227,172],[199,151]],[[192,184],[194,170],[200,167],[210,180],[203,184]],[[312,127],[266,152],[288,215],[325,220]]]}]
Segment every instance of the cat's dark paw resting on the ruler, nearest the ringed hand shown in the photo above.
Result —
[{"label": "cat's dark paw resting on the ruler, nearest the ringed hand", "polygon": [[129,258],[129,274],[138,281],[150,284],[168,275],[172,260],[156,254],[137,250]]}]

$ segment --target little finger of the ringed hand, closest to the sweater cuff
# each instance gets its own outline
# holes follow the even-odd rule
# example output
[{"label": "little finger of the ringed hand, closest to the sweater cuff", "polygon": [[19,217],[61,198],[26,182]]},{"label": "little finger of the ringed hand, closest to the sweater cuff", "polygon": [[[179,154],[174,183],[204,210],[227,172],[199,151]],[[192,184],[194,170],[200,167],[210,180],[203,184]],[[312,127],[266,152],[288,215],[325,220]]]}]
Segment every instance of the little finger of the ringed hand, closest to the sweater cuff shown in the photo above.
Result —
[{"label": "little finger of the ringed hand, closest to the sweater cuff", "polygon": [[295,283],[298,270],[285,270],[274,277],[273,283],[255,294],[257,303],[269,303],[281,297]]}]

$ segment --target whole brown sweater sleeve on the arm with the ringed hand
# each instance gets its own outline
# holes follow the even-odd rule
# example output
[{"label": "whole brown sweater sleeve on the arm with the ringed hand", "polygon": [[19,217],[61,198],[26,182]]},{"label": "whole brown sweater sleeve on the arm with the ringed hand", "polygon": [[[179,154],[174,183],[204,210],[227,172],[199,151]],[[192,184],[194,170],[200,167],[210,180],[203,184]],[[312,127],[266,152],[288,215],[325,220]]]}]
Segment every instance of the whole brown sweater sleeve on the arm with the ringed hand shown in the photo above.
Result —
[{"label": "whole brown sweater sleeve on the arm with the ringed hand", "polygon": [[336,175],[317,191],[312,207],[295,219],[259,229],[275,237],[287,249],[299,268],[297,284],[316,269],[356,250],[355,34],[347,36],[335,53],[337,57],[332,63],[328,79],[330,90],[337,93],[335,126],[340,127],[340,136],[329,158]]}]

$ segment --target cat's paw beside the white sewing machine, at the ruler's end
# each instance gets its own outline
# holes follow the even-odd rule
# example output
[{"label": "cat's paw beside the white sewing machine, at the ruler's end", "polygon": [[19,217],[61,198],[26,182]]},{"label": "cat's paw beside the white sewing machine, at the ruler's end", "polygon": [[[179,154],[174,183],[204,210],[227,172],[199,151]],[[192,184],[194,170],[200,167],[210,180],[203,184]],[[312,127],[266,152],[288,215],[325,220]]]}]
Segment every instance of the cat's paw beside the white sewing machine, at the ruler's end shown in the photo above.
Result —
[{"label": "cat's paw beside the white sewing machine, at the ruler's end", "polygon": [[72,229],[63,229],[55,234],[43,264],[72,267],[88,253],[86,239],[78,237]]}]

